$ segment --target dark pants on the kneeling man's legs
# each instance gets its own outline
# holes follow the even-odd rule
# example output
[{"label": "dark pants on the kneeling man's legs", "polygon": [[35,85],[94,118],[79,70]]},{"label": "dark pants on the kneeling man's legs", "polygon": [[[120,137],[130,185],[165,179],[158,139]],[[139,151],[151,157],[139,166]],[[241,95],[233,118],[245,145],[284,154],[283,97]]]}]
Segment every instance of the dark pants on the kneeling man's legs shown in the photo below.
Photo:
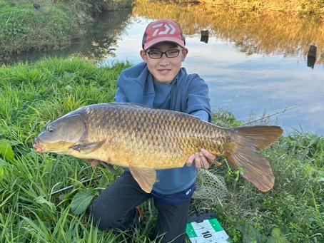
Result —
[{"label": "dark pants on the kneeling man's legs", "polygon": [[[123,172],[113,184],[103,190],[91,205],[93,224],[98,229],[130,229],[136,222],[138,207],[152,196],[141,190],[129,172]],[[154,200],[158,219],[153,239],[164,234],[161,242],[183,243],[186,237],[190,200],[178,205],[165,205]]]}]

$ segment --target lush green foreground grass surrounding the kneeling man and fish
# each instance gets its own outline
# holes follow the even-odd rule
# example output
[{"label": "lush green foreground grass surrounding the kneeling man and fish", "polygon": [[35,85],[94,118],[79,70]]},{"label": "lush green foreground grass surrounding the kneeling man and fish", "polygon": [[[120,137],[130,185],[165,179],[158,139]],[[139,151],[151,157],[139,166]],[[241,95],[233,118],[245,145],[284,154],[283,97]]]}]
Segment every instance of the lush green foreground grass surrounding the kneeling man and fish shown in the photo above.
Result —
[{"label": "lush green foreground grass surrounding the kneeling man and fish", "polygon": [[[128,66],[98,67],[77,57],[1,66],[0,242],[125,242],[123,232],[101,232],[88,219],[88,205],[116,176],[73,157],[37,155],[31,147],[51,120],[113,101],[116,79]],[[240,125],[223,110],[214,120]],[[323,242],[323,136],[295,130],[263,155],[276,177],[273,190],[260,192],[226,165],[215,166],[211,171],[223,177],[228,192],[193,205],[216,212],[234,242]],[[133,242],[150,242],[156,210],[151,202],[141,210]]]}]

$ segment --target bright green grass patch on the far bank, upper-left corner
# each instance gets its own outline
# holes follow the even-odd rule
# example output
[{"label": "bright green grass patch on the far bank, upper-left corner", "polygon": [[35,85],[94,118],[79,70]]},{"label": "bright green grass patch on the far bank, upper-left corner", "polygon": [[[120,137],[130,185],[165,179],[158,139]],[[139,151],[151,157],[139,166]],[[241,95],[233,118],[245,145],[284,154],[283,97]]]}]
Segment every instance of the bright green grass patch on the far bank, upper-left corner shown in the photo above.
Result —
[{"label": "bright green grass patch on the far bank, upper-left corner", "polygon": [[34,1],[0,1],[0,57],[69,46],[82,34],[79,25],[91,20],[76,16],[75,8],[67,4],[49,0],[38,4],[40,9],[34,9]]}]

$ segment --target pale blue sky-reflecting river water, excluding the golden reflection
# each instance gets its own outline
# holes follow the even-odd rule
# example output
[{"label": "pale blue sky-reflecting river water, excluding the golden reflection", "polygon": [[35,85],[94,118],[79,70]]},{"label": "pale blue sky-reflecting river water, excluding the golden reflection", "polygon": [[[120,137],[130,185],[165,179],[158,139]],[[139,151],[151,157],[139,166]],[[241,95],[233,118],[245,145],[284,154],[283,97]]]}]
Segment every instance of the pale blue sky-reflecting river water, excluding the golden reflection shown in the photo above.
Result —
[{"label": "pale blue sky-reflecting river water, excluding the golden reflection", "polygon": [[[100,65],[116,60],[140,62],[142,34],[152,19],[130,15],[111,37],[108,33],[111,28],[116,29],[116,24],[112,24],[115,18],[109,14],[101,17],[89,27],[82,41],[68,50],[45,56],[81,52],[97,56]],[[96,43],[98,39],[106,42]],[[236,43],[216,35],[210,36],[208,43],[202,42],[198,30],[186,34],[186,43],[189,53],[183,66],[188,73],[198,73],[208,83],[213,110],[231,110],[242,121],[250,120],[250,114],[258,119],[264,114],[278,113],[270,119],[273,125],[283,126],[286,134],[303,130],[324,135],[323,63],[315,64],[312,69],[307,66],[303,53],[247,55]],[[101,48],[94,48],[98,44]],[[44,54],[20,56],[19,59],[31,61],[40,56]]]}]

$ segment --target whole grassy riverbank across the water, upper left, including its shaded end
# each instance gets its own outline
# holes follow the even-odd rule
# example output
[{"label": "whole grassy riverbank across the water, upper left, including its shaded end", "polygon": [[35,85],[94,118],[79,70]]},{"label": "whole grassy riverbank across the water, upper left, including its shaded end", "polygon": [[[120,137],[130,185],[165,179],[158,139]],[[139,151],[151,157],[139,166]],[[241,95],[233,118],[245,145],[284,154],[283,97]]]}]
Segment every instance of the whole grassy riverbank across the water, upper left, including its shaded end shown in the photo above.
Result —
[{"label": "whole grassy riverbank across the water, upper left, including its shaded end", "polygon": [[63,49],[84,34],[93,13],[131,8],[133,0],[0,1],[0,62],[19,53]]}]

